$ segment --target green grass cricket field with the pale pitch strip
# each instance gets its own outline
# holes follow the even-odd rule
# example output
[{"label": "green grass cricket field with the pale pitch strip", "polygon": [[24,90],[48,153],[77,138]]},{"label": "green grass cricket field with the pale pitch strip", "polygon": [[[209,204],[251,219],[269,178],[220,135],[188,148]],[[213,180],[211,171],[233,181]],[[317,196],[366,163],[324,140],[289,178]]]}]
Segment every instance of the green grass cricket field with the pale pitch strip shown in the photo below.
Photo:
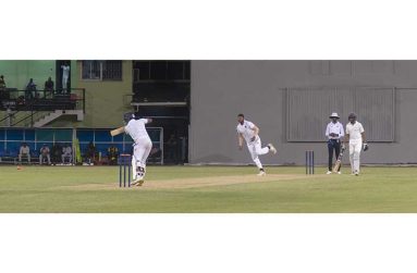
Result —
[{"label": "green grass cricket field with the pale pitch strip", "polygon": [[417,212],[417,167],[267,172],[149,166],[144,187],[119,188],[118,166],[0,166],[0,212]]}]

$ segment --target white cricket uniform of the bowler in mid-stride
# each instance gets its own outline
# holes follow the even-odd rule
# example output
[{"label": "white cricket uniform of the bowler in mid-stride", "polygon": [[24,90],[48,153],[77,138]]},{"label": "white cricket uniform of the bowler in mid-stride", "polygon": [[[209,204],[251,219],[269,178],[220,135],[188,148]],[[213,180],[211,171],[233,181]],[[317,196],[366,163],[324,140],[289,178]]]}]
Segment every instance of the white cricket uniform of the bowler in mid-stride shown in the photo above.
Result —
[{"label": "white cricket uniform of the bowler in mid-stride", "polygon": [[252,159],[254,160],[255,164],[259,167],[262,169],[262,163],[260,163],[259,157],[261,154],[266,154],[269,152],[268,147],[261,147],[261,141],[259,136],[255,138],[253,141],[252,138],[255,136],[254,132],[255,124],[249,122],[249,121],[244,121],[243,124],[237,124],[237,133],[242,134],[243,138],[246,141],[247,149],[250,152]]}]

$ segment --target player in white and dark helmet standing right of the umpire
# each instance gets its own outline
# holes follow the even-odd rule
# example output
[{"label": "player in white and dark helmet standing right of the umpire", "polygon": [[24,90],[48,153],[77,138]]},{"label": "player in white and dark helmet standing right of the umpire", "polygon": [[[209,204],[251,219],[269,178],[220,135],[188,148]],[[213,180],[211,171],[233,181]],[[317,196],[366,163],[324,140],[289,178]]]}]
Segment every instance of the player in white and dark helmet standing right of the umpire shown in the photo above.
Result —
[{"label": "player in white and dark helmet standing right of the umpire", "polygon": [[356,119],[355,113],[349,113],[349,122],[346,124],[345,142],[348,141],[352,175],[357,176],[360,172],[360,151],[368,150],[368,144],[365,139],[364,126]]}]

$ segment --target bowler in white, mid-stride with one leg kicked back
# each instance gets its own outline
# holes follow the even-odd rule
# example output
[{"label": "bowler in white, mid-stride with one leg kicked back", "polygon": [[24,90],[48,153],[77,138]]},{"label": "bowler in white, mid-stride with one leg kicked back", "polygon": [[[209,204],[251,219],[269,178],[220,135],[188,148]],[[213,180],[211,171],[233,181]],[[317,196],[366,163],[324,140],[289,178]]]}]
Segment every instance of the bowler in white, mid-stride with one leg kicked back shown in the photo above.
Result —
[{"label": "bowler in white, mid-stride with one leg kicked back", "polygon": [[246,121],[243,114],[237,115],[237,138],[238,138],[238,148],[242,150],[243,140],[245,139],[247,149],[250,152],[252,159],[254,160],[256,166],[259,169],[258,175],[266,175],[267,173],[263,170],[262,163],[260,163],[259,157],[268,152],[277,153],[277,149],[268,144],[267,147],[261,147],[261,141],[259,137],[259,128],[252,122]]}]

